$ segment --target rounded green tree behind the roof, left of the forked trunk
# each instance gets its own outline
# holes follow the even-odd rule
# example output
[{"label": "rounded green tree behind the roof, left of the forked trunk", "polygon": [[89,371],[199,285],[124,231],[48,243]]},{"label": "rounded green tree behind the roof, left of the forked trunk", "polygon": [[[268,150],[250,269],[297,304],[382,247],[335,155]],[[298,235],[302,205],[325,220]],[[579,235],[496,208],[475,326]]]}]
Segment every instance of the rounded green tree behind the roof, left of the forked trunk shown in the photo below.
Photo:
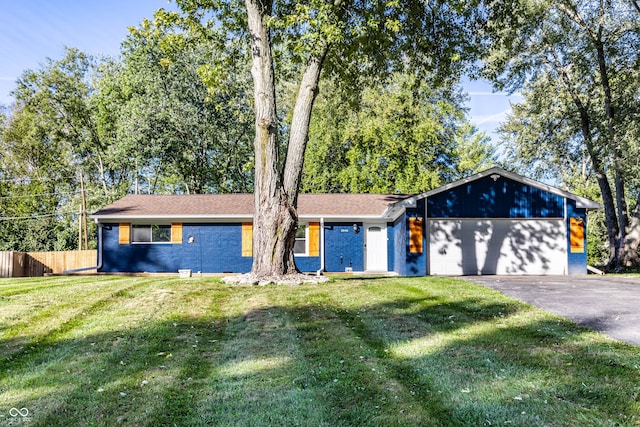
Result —
[{"label": "rounded green tree behind the roof, left of the forked trunk", "polygon": [[207,67],[226,52],[176,36],[161,19],[130,31],[122,62],[102,75],[97,104],[101,129],[117,141],[117,155],[134,159],[134,192],[249,191],[253,133],[246,66],[230,63],[215,90],[208,90]]}]

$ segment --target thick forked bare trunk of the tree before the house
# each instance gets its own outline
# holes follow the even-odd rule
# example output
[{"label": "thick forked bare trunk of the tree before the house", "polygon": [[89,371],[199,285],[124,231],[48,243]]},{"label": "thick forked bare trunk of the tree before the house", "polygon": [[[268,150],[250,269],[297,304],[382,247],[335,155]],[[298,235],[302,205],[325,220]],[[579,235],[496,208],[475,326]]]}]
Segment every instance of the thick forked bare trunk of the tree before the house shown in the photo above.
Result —
[{"label": "thick forked bare trunk of the tree before the house", "polygon": [[[307,61],[291,119],[287,157],[279,172],[275,78],[269,29],[268,2],[245,0],[251,36],[256,136],[253,220],[253,267],[257,277],[298,273],[293,256],[296,212],[304,152],[322,64],[328,50],[319,41]],[[340,1],[334,1],[339,5]]]}]

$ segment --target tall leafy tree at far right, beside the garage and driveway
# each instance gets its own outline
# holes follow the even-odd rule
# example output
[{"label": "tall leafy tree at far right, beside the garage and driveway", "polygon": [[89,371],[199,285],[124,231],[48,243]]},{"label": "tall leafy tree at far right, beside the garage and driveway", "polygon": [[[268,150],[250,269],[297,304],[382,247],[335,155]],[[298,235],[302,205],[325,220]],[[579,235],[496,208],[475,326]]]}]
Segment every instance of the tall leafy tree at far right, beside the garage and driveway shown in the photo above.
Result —
[{"label": "tall leafy tree at far right, beside the garage and driveway", "polygon": [[492,12],[494,44],[485,71],[499,87],[523,88],[526,96],[503,126],[515,143],[512,159],[562,171],[565,182],[594,176],[609,266],[637,265],[640,194],[633,190],[631,214],[627,195],[637,175],[629,157],[638,141],[637,3],[521,0]]}]

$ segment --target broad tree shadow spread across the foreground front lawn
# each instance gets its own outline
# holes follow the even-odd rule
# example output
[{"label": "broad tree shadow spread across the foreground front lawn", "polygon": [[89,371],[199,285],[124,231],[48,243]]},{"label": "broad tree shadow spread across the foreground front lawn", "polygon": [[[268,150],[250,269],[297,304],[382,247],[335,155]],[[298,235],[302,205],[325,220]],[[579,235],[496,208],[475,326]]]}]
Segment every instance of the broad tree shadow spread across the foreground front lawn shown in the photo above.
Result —
[{"label": "broad tree shadow spread across the foreground front lawn", "polygon": [[[47,341],[5,360],[0,380],[20,376],[14,392],[34,397],[11,406],[47,426],[563,424],[575,407],[591,411],[585,424],[594,411],[631,422],[637,390],[630,398],[617,384],[638,375],[619,362],[630,347],[583,342],[586,329],[557,319],[463,333],[519,308],[416,296],[179,317]],[[454,333],[412,356],[393,351]]]}]

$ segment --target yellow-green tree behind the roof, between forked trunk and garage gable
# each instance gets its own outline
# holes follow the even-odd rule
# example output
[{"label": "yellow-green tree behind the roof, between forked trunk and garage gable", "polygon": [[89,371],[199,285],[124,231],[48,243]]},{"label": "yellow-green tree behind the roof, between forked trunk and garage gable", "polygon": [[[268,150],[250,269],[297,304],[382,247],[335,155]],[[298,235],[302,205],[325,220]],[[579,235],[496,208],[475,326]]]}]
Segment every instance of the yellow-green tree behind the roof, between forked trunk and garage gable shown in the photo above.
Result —
[{"label": "yellow-green tree behind the roof, between forked trunk and garage gable", "polygon": [[490,166],[492,148],[464,101],[408,75],[364,89],[357,110],[320,96],[302,191],[421,193]]}]

